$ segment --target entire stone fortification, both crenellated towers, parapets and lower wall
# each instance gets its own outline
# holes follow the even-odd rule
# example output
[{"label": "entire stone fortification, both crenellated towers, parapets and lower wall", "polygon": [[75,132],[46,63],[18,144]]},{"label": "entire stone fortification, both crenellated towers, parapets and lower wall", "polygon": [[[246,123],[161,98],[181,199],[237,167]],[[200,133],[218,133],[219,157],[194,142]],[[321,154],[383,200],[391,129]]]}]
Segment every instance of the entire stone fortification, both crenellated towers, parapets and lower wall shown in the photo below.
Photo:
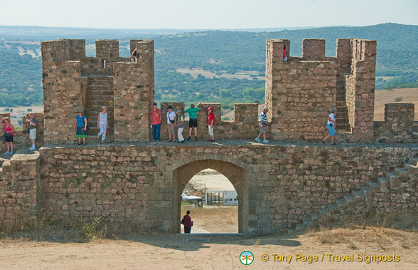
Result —
[{"label": "entire stone fortification, both crenellated towers, parapets and lower wall", "polygon": [[[287,63],[282,62],[284,44]],[[203,103],[200,138],[207,134],[212,106],[215,137],[229,140],[174,145],[149,142],[153,41],[131,41],[136,63],[119,58],[117,41],[97,41],[95,58],[85,57],[82,40],[44,42],[45,120],[41,115],[38,120],[45,123],[40,134],[45,146],[39,152],[18,150],[4,161],[0,227],[10,231],[44,215],[64,220],[82,215],[104,216],[137,232],[176,233],[181,192],[207,168],[234,185],[239,232],[247,234],[300,229],[328,214],[416,209],[414,105],[387,104],[385,121],[373,122],[375,46],[375,41],[338,39],[336,58],[326,58],[325,41],[304,40],[302,57],[294,58],[289,40],[267,40],[266,104],[273,142],[254,142],[257,104],[235,104],[232,123],[220,120],[219,103]],[[109,105],[114,119],[109,140],[115,143],[74,146],[77,109],[95,115],[102,104]],[[183,103],[161,103],[163,138],[168,105],[184,110]],[[336,128],[344,131],[338,140],[350,143],[311,142],[326,134],[333,106],[340,113]]]}]

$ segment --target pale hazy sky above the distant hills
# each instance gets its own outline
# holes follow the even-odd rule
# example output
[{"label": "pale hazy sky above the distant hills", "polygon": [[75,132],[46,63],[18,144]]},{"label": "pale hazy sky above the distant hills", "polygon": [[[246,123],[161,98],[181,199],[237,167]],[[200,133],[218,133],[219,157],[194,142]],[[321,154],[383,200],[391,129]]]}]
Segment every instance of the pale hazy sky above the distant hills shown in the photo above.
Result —
[{"label": "pale hazy sky above the distant hills", "polygon": [[274,28],[418,25],[417,0],[0,0],[0,25]]}]

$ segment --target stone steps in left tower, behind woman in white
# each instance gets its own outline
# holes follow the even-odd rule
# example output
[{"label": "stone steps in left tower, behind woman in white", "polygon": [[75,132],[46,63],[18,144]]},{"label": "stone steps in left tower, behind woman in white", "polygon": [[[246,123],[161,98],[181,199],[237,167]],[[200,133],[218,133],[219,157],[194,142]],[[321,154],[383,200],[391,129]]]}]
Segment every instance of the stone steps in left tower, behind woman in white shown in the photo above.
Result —
[{"label": "stone steps in left tower, behind woman in white", "polygon": [[113,141],[114,134],[114,109],[109,102],[113,103],[113,77],[95,75],[88,77],[87,101],[86,101],[86,117],[90,130],[87,137],[92,137],[90,142],[97,140],[94,138],[99,133],[97,128],[97,116],[102,110],[102,106],[107,108],[107,130],[106,141]]}]

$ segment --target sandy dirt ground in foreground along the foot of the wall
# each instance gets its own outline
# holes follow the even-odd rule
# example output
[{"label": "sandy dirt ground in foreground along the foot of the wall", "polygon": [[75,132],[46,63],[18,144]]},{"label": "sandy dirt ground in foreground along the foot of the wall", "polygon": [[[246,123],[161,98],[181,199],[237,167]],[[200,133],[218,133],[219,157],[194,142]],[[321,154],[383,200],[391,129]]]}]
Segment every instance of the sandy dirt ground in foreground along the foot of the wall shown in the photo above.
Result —
[{"label": "sandy dirt ground in foreground along the foot of the wall", "polygon": [[[417,269],[417,246],[417,233],[375,227],[260,238],[147,234],[84,244],[2,239],[0,268]],[[241,264],[242,251],[251,251],[254,254],[254,261],[250,266]],[[262,261],[262,254],[267,254],[269,259]],[[303,257],[296,261],[296,254],[318,256],[318,261],[309,264],[302,261]],[[337,257],[332,261],[331,255],[328,259],[326,254],[353,254],[354,261],[336,261]],[[282,259],[279,257],[282,255],[290,255],[290,263],[278,261]],[[356,261],[357,258],[367,258],[365,255],[395,255],[400,256],[400,261]]]}]

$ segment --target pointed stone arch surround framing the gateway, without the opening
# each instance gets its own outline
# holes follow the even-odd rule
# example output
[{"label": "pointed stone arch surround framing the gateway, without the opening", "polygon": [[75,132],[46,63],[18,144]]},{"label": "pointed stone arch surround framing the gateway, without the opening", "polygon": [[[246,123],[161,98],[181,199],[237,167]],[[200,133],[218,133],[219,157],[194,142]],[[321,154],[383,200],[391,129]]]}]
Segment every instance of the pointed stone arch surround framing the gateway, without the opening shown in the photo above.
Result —
[{"label": "pointed stone arch surround framing the gateway, without the opening", "polygon": [[[181,192],[184,187],[201,170],[213,169],[223,174],[234,186],[238,196],[238,232],[247,232],[247,214],[248,214],[248,190],[247,190],[247,166],[242,167],[230,162],[227,157],[213,157],[206,156],[206,158],[198,159],[198,157],[191,157],[193,161],[181,160],[173,167],[173,220],[172,232],[180,232],[181,220]],[[197,159],[197,160],[196,160]],[[230,160],[230,161],[225,161]],[[234,160],[235,161],[235,160]],[[193,216],[192,216],[193,217]]]}]

